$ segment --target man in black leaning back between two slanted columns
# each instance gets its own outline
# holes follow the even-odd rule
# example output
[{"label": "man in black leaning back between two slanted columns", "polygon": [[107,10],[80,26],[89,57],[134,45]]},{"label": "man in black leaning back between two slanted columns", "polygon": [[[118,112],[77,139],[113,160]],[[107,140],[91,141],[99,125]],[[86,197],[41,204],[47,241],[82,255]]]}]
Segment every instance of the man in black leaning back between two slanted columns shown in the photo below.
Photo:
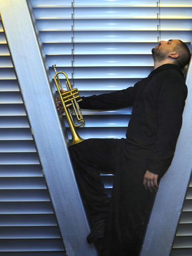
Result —
[{"label": "man in black leaning back between two slanted columns", "polygon": [[[181,69],[190,52],[171,39],[160,41],[152,53],[154,70],[147,78],[125,90],[82,97],[80,103],[82,109],[97,110],[133,106],[126,139],[88,139],[69,147],[94,223],[87,241],[104,237],[102,256],[139,254],[159,180],[172,162],[181,129],[187,96]],[[114,174],[111,200],[100,173]]]}]

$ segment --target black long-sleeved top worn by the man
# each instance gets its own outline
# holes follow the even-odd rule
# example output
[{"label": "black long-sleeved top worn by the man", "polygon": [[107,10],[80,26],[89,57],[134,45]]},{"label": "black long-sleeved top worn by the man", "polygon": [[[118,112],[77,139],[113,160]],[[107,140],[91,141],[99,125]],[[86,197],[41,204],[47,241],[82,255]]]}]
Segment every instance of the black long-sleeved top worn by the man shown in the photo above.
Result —
[{"label": "black long-sleeved top worn by the man", "polygon": [[149,159],[147,169],[163,174],[171,164],[182,125],[187,87],[180,68],[165,64],[125,90],[82,97],[82,109],[114,110],[133,106],[126,147]]}]

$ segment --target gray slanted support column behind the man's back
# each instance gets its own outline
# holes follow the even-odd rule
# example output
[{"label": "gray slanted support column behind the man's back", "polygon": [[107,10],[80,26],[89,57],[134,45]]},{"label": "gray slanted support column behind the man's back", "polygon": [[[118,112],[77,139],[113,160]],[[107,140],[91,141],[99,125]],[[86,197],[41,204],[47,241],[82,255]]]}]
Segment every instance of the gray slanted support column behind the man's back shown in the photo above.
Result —
[{"label": "gray slanted support column behind the man's back", "polygon": [[186,78],[188,96],[173,162],[160,181],[140,256],[169,256],[192,169],[192,61]]}]

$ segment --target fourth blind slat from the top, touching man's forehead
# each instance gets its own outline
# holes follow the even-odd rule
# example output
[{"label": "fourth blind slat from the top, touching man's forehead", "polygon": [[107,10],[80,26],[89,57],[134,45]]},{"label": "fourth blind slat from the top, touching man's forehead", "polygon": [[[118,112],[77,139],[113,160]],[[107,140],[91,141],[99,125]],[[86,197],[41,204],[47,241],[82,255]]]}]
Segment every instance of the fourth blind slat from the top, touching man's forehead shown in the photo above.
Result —
[{"label": "fourth blind slat from the top, touching man's forehead", "polygon": [[[73,31],[68,32],[40,32],[43,43],[70,43],[74,36]],[[155,42],[157,43],[158,31],[76,31],[76,42]],[[162,37],[166,38],[181,38],[184,42],[191,41],[190,31],[162,31]],[[176,37],[175,37],[176,36]],[[1,75],[1,73],[0,73]]]}]

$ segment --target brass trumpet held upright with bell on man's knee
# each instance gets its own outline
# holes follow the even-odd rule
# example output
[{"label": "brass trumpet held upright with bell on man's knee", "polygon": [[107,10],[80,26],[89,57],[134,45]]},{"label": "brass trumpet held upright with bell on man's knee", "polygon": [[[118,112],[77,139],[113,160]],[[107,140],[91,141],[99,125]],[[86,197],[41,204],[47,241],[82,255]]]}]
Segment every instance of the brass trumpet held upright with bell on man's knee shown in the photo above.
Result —
[{"label": "brass trumpet held upright with bell on man's knee", "polygon": [[[72,142],[70,144],[71,146],[79,142],[82,142],[84,140],[79,136],[79,134],[75,130],[75,127],[85,126],[85,121],[83,119],[83,115],[78,104],[78,102],[82,101],[82,99],[80,98],[78,89],[72,88],[71,83],[68,80],[67,74],[62,71],[57,72],[56,65],[52,65],[52,68],[55,71],[54,81],[59,94],[58,99],[62,104],[63,110],[65,112],[66,120],[69,124],[69,129],[72,135]],[[66,83],[67,91],[65,91],[64,93],[61,93],[60,91],[60,90],[63,90],[63,88],[59,79],[59,74],[63,74],[66,78],[65,83]],[[73,118],[73,112],[75,116],[74,118]]]}]

